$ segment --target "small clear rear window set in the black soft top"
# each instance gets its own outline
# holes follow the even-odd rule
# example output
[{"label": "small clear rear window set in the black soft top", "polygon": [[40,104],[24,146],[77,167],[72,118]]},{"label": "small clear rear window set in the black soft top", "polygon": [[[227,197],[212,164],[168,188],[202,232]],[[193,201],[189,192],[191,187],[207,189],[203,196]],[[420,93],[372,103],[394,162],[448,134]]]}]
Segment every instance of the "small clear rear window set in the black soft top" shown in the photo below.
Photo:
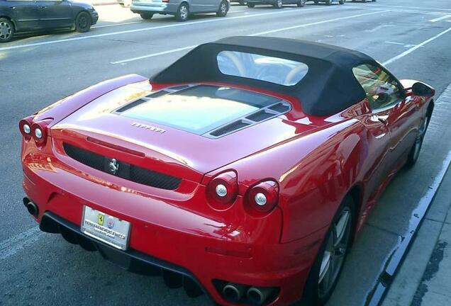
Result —
[{"label": "small clear rear window set in the black soft top", "polygon": [[245,52],[221,51],[216,60],[223,74],[284,86],[298,84],[308,72],[308,66],[303,62]]}]

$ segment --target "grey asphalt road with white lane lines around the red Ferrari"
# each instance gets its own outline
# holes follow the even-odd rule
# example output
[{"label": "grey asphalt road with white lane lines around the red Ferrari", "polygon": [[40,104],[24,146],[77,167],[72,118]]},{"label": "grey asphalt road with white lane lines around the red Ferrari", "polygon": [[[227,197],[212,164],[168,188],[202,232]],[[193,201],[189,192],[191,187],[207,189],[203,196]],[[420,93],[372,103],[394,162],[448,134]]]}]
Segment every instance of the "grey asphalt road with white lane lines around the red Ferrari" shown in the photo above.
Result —
[{"label": "grey asphalt road with white lane lines around the red Ferrari", "polygon": [[[18,120],[105,79],[150,76],[190,47],[230,35],[326,42],[366,52],[399,79],[421,79],[437,96],[451,83],[451,2],[378,0],[304,8],[247,8],[228,16],[143,21],[127,8],[99,6],[89,33],[24,35],[0,45],[0,305],[211,305],[138,276],[94,252],[40,233],[21,203]],[[448,100],[449,101],[449,100]],[[418,164],[391,182],[357,238],[329,305],[363,305],[412,211],[451,150],[450,106],[436,106]],[[168,242],[170,247],[170,242]]]}]

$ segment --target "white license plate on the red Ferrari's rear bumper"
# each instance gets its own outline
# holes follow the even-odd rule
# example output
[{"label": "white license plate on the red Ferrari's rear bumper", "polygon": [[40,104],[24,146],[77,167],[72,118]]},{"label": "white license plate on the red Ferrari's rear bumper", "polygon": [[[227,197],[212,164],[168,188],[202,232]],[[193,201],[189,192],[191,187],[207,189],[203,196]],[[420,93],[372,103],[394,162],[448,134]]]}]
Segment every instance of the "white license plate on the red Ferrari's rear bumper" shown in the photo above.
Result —
[{"label": "white license plate on the red Ferrari's rear bumper", "polygon": [[116,249],[127,249],[130,222],[84,206],[81,229],[89,237],[114,246]]}]

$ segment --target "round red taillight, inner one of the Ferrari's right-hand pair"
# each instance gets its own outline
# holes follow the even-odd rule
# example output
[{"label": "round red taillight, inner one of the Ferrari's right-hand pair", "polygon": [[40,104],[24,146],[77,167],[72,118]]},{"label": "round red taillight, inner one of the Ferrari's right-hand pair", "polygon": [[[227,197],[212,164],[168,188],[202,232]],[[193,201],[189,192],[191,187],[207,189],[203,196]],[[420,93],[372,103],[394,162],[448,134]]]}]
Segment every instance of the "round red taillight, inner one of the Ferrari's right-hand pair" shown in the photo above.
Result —
[{"label": "round red taillight, inner one of the Ferrari's right-hand pair", "polygon": [[238,180],[235,171],[227,171],[215,176],[207,187],[208,202],[215,205],[233,204],[238,196]]}]

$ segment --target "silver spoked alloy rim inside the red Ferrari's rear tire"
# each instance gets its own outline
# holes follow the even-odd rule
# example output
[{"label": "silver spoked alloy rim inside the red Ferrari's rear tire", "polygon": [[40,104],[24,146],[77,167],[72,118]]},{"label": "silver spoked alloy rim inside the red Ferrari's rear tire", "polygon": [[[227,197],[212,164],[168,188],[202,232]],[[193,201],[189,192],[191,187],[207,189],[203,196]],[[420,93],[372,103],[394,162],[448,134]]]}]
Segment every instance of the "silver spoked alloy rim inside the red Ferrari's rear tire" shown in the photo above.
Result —
[{"label": "silver spoked alloy rim inside the red Ferrari's rear tire", "polygon": [[321,298],[332,290],[345,261],[351,232],[351,217],[351,210],[346,207],[332,225],[318,276],[318,296]]}]

